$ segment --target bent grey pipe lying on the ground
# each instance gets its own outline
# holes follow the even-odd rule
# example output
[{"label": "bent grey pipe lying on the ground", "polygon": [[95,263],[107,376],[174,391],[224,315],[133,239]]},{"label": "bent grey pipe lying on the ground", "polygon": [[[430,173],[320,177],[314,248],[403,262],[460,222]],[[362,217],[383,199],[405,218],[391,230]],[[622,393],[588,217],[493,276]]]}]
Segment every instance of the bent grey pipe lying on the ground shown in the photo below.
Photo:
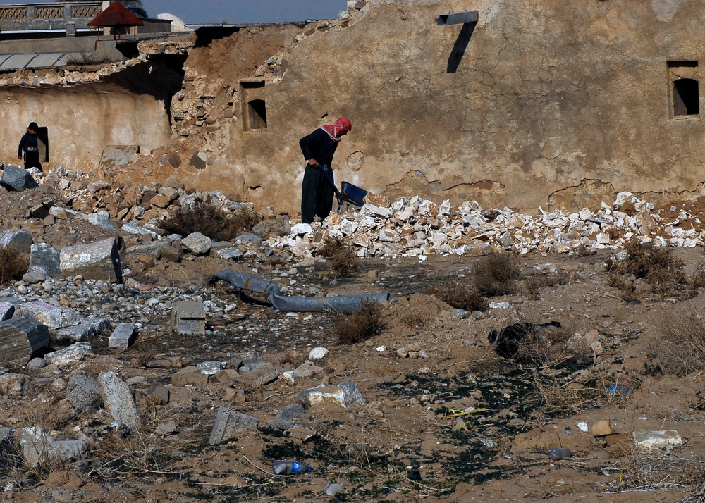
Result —
[{"label": "bent grey pipe lying on the ground", "polygon": [[389,302],[391,294],[362,294],[348,297],[288,297],[279,292],[279,285],[247,273],[225,269],[216,273],[216,279],[227,281],[235,288],[269,296],[275,309],[288,313],[331,311],[350,313],[360,309],[365,302]]}]

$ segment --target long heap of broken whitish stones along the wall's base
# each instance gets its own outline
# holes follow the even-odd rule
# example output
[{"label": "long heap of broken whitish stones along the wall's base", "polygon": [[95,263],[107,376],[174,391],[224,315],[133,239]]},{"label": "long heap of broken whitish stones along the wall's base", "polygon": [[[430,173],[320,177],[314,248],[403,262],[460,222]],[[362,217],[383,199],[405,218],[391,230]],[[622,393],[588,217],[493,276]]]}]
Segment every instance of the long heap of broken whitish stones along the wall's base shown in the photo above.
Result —
[{"label": "long heap of broken whitish stones along the wall's base", "polygon": [[[511,209],[486,211],[473,201],[453,208],[412,197],[386,206],[364,204],[359,211],[331,213],[322,223],[294,225],[286,237],[269,245],[289,249],[295,256],[310,256],[323,237],[345,237],[355,244],[357,256],[464,255],[493,247],[520,254],[568,253],[579,247],[619,249],[632,239],[656,246],[695,247],[704,244],[705,230],[697,230],[697,216],[680,210],[678,218],[665,221],[654,205],[631,192],[620,192],[612,205],[598,211],[574,213],[555,209],[539,216]],[[320,232],[318,232],[320,231]]]}]

